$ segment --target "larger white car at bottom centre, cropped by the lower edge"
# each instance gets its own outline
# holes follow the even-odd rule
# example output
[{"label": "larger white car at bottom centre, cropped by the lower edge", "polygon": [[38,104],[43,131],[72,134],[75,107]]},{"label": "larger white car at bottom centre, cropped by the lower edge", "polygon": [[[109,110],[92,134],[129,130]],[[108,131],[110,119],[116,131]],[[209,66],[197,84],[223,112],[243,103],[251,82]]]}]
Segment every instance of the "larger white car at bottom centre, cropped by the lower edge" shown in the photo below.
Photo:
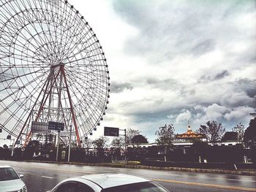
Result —
[{"label": "larger white car at bottom centre, cropped by the lower edge", "polygon": [[161,185],[128,174],[89,174],[61,181],[50,192],[168,192]]}]

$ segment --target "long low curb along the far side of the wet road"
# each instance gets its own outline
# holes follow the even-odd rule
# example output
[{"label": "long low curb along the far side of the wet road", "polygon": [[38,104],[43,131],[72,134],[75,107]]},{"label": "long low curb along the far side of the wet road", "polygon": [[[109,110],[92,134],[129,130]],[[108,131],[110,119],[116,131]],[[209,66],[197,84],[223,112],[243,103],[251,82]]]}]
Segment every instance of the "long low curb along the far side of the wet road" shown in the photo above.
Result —
[{"label": "long low curb along the far side of the wet road", "polygon": [[[18,161],[18,160],[5,160],[5,161]],[[19,160],[20,161],[20,160]],[[129,164],[86,164],[80,162],[57,162],[57,161],[25,161],[35,163],[46,163],[46,164],[71,164],[81,166],[109,166],[116,168],[128,168],[128,169],[154,169],[154,170],[165,170],[165,171],[178,171],[178,172],[200,172],[200,173],[211,173],[211,174],[238,174],[238,175],[249,175],[256,176],[256,171],[248,170],[227,170],[227,169],[197,169],[197,168],[184,168],[184,167],[159,167],[159,166],[143,166],[143,165],[129,165]]]}]

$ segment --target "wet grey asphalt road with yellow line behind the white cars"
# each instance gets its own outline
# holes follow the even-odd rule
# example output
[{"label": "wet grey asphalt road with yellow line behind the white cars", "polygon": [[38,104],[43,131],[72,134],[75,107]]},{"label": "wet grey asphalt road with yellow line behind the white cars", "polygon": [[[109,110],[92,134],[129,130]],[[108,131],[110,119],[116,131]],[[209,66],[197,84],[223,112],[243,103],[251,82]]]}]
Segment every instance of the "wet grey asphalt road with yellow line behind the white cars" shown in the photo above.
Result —
[{"label": "wet grey asphalt road with yellow line behind the white cars", "polygon": [[124,169],[68,164],[44,164],[18,161],[0,161],[0,164],[10,165],[19,174],[24,174],[23,181],[26,183],[29,192],[48,191],[67,177],[97,173],[124,173],[147,177],[165,186],[169,191],[256,191],[255,176],[203,174],[149,169]]}]

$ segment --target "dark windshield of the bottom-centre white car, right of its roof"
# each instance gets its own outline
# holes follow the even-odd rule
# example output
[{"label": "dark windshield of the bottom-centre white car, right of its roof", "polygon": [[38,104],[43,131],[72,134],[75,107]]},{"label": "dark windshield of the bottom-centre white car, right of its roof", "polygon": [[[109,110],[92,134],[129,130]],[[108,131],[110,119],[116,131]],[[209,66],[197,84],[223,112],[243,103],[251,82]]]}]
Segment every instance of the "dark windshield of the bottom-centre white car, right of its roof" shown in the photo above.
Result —
[{"label": "dark windshield of the bottom-centre white car, right of its roof", "polygon": [[129,185],[121,185],[113,188],[105,188],[102,192],[167,192],[165,188],[153,182],[134,183]]}]

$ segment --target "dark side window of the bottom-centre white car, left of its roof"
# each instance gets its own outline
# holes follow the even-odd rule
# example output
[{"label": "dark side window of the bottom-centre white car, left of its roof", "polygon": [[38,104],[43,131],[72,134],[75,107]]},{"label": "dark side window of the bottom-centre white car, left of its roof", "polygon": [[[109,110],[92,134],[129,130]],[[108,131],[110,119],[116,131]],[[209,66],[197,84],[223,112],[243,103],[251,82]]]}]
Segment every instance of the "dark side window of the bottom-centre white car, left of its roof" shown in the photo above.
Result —
[{"label": "dark side window of the bottom-centre white car, left of its roof", "polygon": [[56,192],[94,192],[94,190],[80,182],[67,182],[59,185]]}]

